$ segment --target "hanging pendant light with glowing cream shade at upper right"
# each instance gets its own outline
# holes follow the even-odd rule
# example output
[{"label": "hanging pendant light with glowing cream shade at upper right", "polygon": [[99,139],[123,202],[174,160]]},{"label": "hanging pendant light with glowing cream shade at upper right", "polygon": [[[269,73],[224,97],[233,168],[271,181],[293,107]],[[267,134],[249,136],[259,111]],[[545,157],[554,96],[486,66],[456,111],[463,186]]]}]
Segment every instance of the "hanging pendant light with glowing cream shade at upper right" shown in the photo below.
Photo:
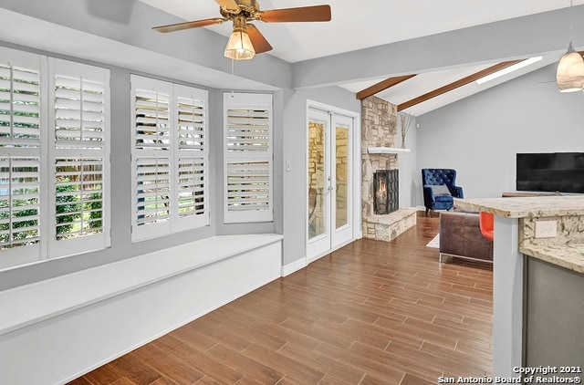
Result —
[{"label": "hanging pendant light with glowing cream shade at upper right", "polygon": [[570,41],[568,51],[559,60],[558,72],[556,73],[556,84],[560,92],[581,91],[584,88],[584,59],[572,47],[573,35],[573,10],[572,0],[569,2],[570,10]]}]

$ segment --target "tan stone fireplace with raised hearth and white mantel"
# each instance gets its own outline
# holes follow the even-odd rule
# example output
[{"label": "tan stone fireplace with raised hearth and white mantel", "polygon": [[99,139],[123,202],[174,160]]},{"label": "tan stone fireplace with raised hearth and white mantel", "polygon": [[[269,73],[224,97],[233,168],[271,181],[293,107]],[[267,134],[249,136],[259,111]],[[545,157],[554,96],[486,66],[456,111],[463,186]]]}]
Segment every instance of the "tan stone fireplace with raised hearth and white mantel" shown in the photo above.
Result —
[{"label": "tan stone fireplace with raised hearth and white mantel", "polygon": [[[416,224],[416,209],[399,206],[399,171],[397,153],[370,153],[368,149],[395,148],[397,142],[397,106],[377,97],[361,100],[361,213],[366,238],[391,241]],[[384,213],[375,210],[375,173],[387,171],[395,175],[391,186],[394,206]],[[386,203],[389,204],[389,203]],[[377,212],[377,213],[376,213]]]}]

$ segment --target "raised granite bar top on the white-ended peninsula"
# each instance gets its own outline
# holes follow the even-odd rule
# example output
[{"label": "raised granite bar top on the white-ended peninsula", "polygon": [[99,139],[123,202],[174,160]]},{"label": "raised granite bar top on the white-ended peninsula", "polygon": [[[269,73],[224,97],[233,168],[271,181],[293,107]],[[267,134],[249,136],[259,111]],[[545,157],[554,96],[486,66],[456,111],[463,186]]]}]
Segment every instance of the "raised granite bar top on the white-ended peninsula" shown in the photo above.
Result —
[{"label": "raised granite bar top on the white-ended peninsula", "polygon": [[584,215],[584,196],[454,199],[454,207],[509,218]]}]

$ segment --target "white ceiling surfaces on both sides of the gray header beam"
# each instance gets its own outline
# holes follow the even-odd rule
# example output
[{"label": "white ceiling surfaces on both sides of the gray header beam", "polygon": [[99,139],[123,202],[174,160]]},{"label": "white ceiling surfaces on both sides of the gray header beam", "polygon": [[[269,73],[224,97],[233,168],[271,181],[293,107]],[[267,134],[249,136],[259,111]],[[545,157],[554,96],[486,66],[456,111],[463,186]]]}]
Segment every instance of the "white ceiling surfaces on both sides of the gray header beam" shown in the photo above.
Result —
[{"label": "white ceiling surfaces on both sides of the gray header beam", "polygon": [[[219,6],[214,0],[140,1],[184,20],[220,16]],[[261,0],[260,2],[262,10],[320,4],[327,4],[327,1]],[[255,26],[274,47],[269,55],[295,63],[518,16],[533,15],[566,8],[570,5],[568,0],[330,0],[328,4],[331,5],[332,13],[332,20],[328,23],[267,24],[256,21]],[[584,4],[584,0],[574,0],[573,4]],[[224,36],[229,36],[232,31],[230,24],[207,28]],[[180,33],[185,32],[174,32],[174,34]],[[421,115],[518,75],[547,66],[558,59],[557,55],[544,57],[536,65],[507,75],[505,78],[499,78],[481,87],[471,83],[440,97],[425,101],[411,109],[406,109],[406,111],[414,115]],[[496,63],[423,73],[398,86],[388,88],[377,96],[381,99],[387,99],[393,104],[400,104],[494,64]],[[367,64],[363,63],[363,65]],[[381,80],[383,78],[370,79],[365,82],[342,84],[340,87],[351,92],[358,92]]]}]

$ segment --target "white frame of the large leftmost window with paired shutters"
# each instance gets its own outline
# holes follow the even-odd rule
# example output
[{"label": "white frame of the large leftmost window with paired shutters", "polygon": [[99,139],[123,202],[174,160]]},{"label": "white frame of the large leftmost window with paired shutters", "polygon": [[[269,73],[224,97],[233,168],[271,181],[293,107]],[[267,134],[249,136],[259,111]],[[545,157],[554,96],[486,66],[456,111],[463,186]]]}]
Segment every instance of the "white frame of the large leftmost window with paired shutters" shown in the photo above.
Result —
[{"label": "white frame of the large leftmost window with paired shutters", "polygon": [[[98,68],[85,64],[70,62],[52,57],[31,54],[16,49],[0,47],[0,56],[5,57],[3,66],[12,66],[14,68],[29,68],[37,70],[39,73],[39,145],[37,148],[18,147],[10,143],[0,146],[0,158],[36,158],[39,162],[38,172],[38,189],[39,189],[39,220],[38,220],[38,238],[36,245],[22,245],[14,248],[0,249],[0,269],[35,263],[47,259],[63,257],[68,255],[78,255],[99,249],[110,247],[110,70]],[[6,59],[7,58],[7,59]],[[56,108],[61,112],[68,113],[68,106],[61,105],[57,107],[55,78],[65,76],[71,78],[85,78],[86,81],[96,82],[99,84],[100,94],[99,116],[92,116],[91,124],[99,125],[99,139],[92,141],[91,146],[78,145],[74,151],[73,158],[76,159],[99,159],[99,169],[101,170],[100,197],[98,201],[101,205],[99,210],[101,220],[98,231],[78,231],[70,238],[57,240],[57,202],[56,202],[56,160],[57,157],[67,156],[65,152],[68,146],[64,146],[59,141],[60,149],[57,150],[56,140]],[[82,80],[80,80],[82,82]],[[70,100],[76,103],[75,100]],[[78,101],[78,107],[84,101]],[[78,114],[87,114],[83,112],[87,105],[77,109]],[[74,108],[71,109],[71,111]],[[12,118],[11,118],[12,119]],[[75,119],[74,117],[72,118]],[[79,130],[86,127],[87,120],[79,119]],[[1,140],[0,140],[1,141]],[[91,149],[99,141],[99,150]],[[73,142],[73,140],[71,141]],[[70,173],[70,172],[69,172]],[[73,173],[73,175],[76,175]],[[81,175],[81,174],[79,174]],[[96,185],[96,183],[92,183]],[[79,182],[78,186],[88,185],[88,183]],[[70,196],[81,196],[81,192],[70,192]],[[78,207],[85,207],[79,204]],[[88,212],[85,212],[88,213]],[[81,214],[83,218],[83,214]],[[83,219],[75,222],[75,226],[82,224]],[[74,227],[74,229],[77,227]]]}]

